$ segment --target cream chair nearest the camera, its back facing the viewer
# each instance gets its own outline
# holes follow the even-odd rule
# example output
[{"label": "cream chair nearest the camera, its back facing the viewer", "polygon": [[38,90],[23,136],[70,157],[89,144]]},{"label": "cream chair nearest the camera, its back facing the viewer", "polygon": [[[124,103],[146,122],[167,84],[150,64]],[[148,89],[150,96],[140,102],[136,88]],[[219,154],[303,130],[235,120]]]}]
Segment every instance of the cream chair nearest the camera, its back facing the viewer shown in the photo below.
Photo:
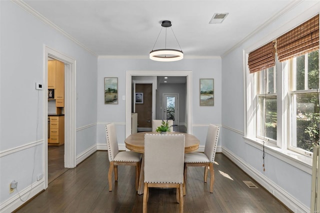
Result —
[{"label": "cream chair nearest the camera, its back facing the viewer", "polygon": [[147,210],[149,187],[176,188],[183,212],[184,134],[144,135],[143,212]]}]

